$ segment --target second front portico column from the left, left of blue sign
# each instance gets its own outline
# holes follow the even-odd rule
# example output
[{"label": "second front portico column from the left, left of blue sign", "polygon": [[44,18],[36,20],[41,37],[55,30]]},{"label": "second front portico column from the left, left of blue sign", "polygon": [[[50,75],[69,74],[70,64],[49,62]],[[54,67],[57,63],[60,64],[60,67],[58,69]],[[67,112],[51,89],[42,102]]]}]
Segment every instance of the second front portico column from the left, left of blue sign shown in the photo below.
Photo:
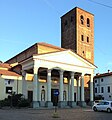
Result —
[{"label": "second front portico column from the left, left of blue sign", "polygon": [[47,70],[47,107],[52,107],[53,103],[51,102],[51,70]]}]

